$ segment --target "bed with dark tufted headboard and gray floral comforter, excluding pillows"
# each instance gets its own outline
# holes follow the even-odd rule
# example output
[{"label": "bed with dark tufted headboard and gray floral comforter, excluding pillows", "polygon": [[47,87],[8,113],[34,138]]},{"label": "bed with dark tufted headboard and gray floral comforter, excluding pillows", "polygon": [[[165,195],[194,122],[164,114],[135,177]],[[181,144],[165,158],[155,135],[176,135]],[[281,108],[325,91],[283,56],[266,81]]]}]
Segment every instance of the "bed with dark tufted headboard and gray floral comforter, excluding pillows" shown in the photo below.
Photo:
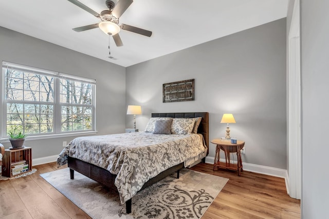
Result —
[{"label": "bed with dark tufted headboard and gray floral comforter, excluding pillows", "polygon": [[[138,191],[174,172],[179,177],[181,168],[205,162],[208,155],[208,112],[152,113],[151,117],[154,120],[178,118],[175,121],[200,118],[200,123],[195,129],[196,134],[135,132],[78,137],[62,151],[58,164],[67,162],[71,179],[74,179],[74,171],[78,171],[117,190],[121,203],[126,205],[126,212],[131,213],[132,197]],[[145,131],[147,129],[148,126]],[[199,141],[204,148],[199,146]],[[107,146],[108,142],[111,142],[111,147]]]}]

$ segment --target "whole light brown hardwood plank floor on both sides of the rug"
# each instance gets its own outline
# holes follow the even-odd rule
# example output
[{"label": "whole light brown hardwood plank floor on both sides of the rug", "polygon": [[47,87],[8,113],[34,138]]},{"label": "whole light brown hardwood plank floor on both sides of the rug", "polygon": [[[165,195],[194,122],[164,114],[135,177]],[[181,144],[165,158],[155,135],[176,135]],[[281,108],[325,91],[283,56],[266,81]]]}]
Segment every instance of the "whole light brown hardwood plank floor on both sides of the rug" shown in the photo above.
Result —
[{"label": "whole light brown hardwood plank floor on both sides of the rug", "polygon": [[[0,218],[90,218],[39,174],[56,163],[34,166],[38,172],[0,181]],[[213,171],[211,164],[193,170],[229,178],[203,218],[300,218],[300,201],[286,193],[283,178],[244,171]]]}]

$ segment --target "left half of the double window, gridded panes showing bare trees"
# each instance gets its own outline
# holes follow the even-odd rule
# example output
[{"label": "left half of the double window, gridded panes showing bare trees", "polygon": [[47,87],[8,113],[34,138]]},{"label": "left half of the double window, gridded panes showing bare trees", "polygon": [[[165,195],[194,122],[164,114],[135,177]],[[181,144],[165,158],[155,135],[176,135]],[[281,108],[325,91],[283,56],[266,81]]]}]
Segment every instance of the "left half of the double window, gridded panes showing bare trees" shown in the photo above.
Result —
[{"label": "left half of the double window, gridded panes showing bare trees", "polygon": [[53,132],[54,78],[5,69],[7,100],[6,132],[24,134]]}]

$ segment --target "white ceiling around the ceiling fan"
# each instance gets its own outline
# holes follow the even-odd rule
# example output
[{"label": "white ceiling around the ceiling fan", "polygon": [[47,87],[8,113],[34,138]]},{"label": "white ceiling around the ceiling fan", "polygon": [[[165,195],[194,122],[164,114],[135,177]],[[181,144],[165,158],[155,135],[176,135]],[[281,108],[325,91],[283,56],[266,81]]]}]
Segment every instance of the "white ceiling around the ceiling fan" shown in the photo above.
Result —
[{"label": "white ceiling around the ceiling fan", "polygon": [[[108,58],[108,36],[99,28],[72,30],[100,19],[66,0],[0,0],[0,26],[127,67],[286,17],[288,1],[135,0],[120,24],[153,34],[121,30],[123,46],[110,41],[117,60]],[[98,13],[107,9],[105,0],[80,2]]]}]

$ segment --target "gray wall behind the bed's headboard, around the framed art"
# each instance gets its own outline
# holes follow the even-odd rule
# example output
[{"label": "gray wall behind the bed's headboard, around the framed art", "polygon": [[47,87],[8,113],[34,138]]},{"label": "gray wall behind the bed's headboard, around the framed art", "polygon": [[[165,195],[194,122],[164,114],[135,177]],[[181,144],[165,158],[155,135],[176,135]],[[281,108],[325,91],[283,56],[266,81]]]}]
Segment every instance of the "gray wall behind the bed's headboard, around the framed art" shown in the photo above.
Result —
[{"label": "gray wall behind the bed's headboard, around the framed art", "polygon": [[[191,78],[195,101],[162,103],[162,84]],[[222,115],[233,113],[243,162],[286,169],[286,19],[127,67],[126,104],[142,106],[140,130],[151,112],[209,112],[210,140],[225,136]]]}]

